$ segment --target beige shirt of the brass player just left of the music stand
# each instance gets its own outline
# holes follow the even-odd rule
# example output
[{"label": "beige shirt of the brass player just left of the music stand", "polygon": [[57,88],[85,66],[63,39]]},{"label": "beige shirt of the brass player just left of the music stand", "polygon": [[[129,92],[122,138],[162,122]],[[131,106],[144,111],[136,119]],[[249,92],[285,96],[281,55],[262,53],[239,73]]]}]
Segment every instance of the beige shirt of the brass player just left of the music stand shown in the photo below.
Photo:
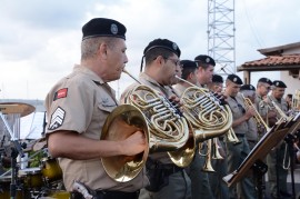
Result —
[{"label": "beige shirt of the brass player just left of the music stand", "polygon": [[[233,120],[237,120],[244,115],[243,110],[246,111],[246,107],[240,93],[237,94],[236,100],[232,97],[228,96],[227,102],[232,111]],[[236,133],[244,135],[246,132],[248,132],[249,129],[248,122],[243,121],[239,126],[233,127],[232,129]]]}]

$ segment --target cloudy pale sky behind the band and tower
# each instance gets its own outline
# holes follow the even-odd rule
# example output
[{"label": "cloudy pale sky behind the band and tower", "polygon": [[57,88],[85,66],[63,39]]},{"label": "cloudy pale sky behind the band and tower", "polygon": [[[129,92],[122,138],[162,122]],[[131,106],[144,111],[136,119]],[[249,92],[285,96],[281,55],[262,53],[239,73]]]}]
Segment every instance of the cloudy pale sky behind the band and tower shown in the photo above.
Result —
[{"label": "cloudy pale sky behind the band and tower", "polygon": [[[144,47],[157,38],[176,41],[181,59],[207,53],[207,8],[208,0],[1,0],[0,99],[44,99],[79,63],[81,27],[94,17],[126,24],[133,76]],[[257,49],[298,42],[299,19],[299,0],[236,1],[237,66],[263,58]],[[122,74],[111,86],[121,92],[131,82]]]}]

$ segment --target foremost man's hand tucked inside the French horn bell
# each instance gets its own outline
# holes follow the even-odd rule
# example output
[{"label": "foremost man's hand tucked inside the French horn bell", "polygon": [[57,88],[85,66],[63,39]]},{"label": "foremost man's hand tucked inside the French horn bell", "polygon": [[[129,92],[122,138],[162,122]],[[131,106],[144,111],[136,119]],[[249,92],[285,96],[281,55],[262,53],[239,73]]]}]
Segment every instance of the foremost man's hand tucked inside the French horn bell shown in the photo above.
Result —
[{"label": "foremost man's hand tucked inside the French horn bell", "polygon": [[146,147],[148,147],[144,133],[142,131],[136,131],[133,135],[123,140],[122,145],[126,156],[140,153],[144,151]]}]

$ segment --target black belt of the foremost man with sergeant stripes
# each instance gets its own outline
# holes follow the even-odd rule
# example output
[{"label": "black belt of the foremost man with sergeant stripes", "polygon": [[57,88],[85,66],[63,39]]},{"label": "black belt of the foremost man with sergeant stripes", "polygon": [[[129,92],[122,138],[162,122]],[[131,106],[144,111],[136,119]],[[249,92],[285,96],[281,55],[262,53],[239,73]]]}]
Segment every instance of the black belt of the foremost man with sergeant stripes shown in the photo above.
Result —
[{"label": "black belt of the foremost man with sergeant stripes", "polygon": [[[123,191],[96,190],[93,199],[138,199],[140,191],[123,192]],[[84,197],[79,192],[71,192],[70,199],[84,199]]]}]

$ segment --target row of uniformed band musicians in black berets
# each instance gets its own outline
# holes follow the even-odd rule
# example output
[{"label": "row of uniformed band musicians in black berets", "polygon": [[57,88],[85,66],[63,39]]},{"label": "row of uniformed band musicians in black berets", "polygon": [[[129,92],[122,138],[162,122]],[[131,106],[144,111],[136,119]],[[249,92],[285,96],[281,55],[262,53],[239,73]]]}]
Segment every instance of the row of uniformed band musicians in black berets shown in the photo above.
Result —
[{"label": "row of uniformed band musicians in black berets", "polygon": [[[70,197],[258,198],[252,172],[231,187],[227,186],[223,177],[237,170],[263,135],[282,117],[299,111],[299,107],[294,107],[291,99],[284,99],[288,86],[281,80],[267,77],[260,78],[256,84],[246,84],[237,74],[228,74],[223,79],[214,73],[216,62],[211,57],[200,54],[194,59],[181,59],[180,48],[174,41],[154,39],[143,50],[138,82],[126,88],[121,99],[117,99],[108,82],[120,79],[129,61],[126,54],[126,27],[112,19],[94,18],[87,22],[82,27],[80,64],[76,64],[69,76],[58,81],[46,98],[47,147],[50,156],[57,158],[62,169],[63,187],[70,192]],[[104,159],[119,157],[123,161],[130,161],[132,157],[138,157],[136,155],[148,151],[149,142],[153,141],[153,137],[148,137],[142,128],[136,128],[130,135],[123,133],[119,140],[102,139],[106,128],[109,129],[108,133],[120,131],[122,135],[122,131],[126,131],[127,126],[107,126],[107,118],[131,98],[133,101],[140,98],[130,94],[139,86],[151,88],[159,99],[167,100],[167,106],[174,108],[178,118],[184,116],[181,99],[187,96],[188,88],[196,87],[206,93],[210,92],[218,107],[229,107],[232,123],[227,133],[197,142],[191,161],[184,167],[172,161],[168,150],[170,147],[166,143],[166,150],[149,152],[141,171],[132,178],[128,177],[130,175],[124,177],[130,178],[127,180],[113,178],[108,172],[111,168],[118,168],[117,165],[121,162],[116,160],[110,163],[111,168],[107,168],[102,163]],[[152,99],[151,94],[144,94],[144,98]],[[202,101],[204,103],[204,100]],[[144,107],[154,103],[153,100]],[[207,109],[209,108],[208,106]],[[143,113],[151,115],[149,111]],[[163,112],[160,113],[163,120]],[[161,118],[151,121],[146,119],[149,129]],[[163,125],[168,127],[168,119],[164,120]],[[193,126],[188,119],[184,119],[184,122],[188,136],[182,137],[191,138]],[[182,129],[187,129],[186,126]],[[167,140],[167,137],[168,135],[162,140]],[[294,155],[299,150],[298,140],[294,135]],[[270,197],[290,198],[287,188],[289,162],[298,160],[296,156],[289,160],[287,142],[279,142],[263,161],[268,166]],[[123,169],[118,175],[126,172]],[[134,170],[131,169],[128,173],[134,173]]]}]

